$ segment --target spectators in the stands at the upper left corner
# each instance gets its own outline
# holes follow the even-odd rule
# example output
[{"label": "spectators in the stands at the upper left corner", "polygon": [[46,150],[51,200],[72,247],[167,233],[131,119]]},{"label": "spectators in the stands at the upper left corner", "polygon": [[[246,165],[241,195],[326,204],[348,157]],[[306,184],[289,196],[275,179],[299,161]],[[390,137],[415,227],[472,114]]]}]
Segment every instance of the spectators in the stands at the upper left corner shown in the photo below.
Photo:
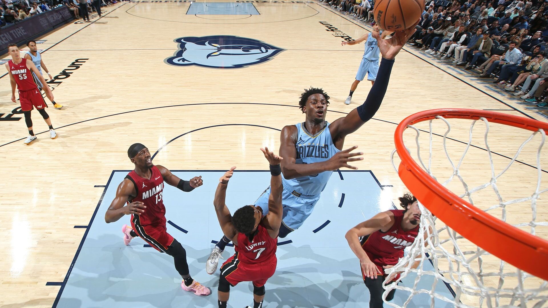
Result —
[{"label": "spectators in the stands at the upper left corner", "polygon": [[66,5],[76,19],[89,21],[89,13],[101,16],[101,7],[116,0],[0,0],[0,26],[14,24],[25,18]]}]

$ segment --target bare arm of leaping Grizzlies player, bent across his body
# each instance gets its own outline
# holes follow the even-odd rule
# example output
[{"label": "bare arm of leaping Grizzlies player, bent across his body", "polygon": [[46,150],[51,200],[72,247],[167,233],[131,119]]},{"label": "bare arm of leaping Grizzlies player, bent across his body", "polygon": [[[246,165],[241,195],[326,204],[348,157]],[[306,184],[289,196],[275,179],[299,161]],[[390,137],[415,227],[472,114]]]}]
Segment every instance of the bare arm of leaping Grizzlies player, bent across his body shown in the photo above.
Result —
[{"label": "bare arm of leaping Grizzlies player, bent across his body", "polygon": [[363,155],[363,152],[350,153],[350,151],[355,150],[357,147],[353,146],[349,149],[336,153],[327,161],[311,164],[298,164],[295,163],[297,158],[297,150],[295,149],[296,139],[297,128],[294,125],[282,128],[282,134],[280,135],[279,155],[283,157],[281,166],[283,177],[286,179],[314,175],[324,171],[337,170],[343,167],[358,169],[357,167],[350,166],[348,163],[363,159],[363,157],[355,157],[358,155]]}]

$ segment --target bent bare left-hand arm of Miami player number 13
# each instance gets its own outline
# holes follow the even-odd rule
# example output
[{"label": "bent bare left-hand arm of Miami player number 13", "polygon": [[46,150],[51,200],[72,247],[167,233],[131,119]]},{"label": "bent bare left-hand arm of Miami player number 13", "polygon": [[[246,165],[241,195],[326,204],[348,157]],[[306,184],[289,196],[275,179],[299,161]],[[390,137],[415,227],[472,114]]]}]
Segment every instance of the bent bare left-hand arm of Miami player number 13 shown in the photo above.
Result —
[{"label": "bent bare left-hand arm of Miami player number 13", "polygon": [[106,210],[106,223],[113,223],[122,218],[123,215],[141,215],[142,213],[145,213],[146,206],[144,203],[139,201],[132,202],[124,207],[124,204],[128,201],[128,199],[136,194],[137,192],[135,191],[135,185],[133,182],[128,179],[124,179],[120,185],[118,185],[116,197],[112,200],[109,209]]}]

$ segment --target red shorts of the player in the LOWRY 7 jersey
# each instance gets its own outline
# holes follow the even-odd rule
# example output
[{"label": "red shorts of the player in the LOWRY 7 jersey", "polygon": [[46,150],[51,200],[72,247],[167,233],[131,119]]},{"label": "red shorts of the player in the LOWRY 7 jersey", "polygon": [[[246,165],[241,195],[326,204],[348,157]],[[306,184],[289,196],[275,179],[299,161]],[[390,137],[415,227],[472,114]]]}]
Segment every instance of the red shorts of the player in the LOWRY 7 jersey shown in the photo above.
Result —
[{"label": "red shorts of the player in the LOWRY 7 jersey", "polygon": [[276,256],[258,264],[241,263],[235,254],[222,264],[221,275],[225,276],[232,287],[239,282],[251,281],[253,286],[260,288],[274,275],[277,263]]}]

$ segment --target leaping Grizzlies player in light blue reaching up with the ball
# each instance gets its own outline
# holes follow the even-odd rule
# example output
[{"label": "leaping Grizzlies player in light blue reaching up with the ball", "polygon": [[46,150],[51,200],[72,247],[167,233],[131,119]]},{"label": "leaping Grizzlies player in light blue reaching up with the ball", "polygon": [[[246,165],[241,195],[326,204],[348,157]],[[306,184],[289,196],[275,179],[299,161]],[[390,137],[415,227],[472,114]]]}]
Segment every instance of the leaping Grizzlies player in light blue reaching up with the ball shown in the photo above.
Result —
[{"label": "leaping Grizzlies player in light blue reaching up with the ball", "polygon": [[[379,110],[388,87],[394,58],[409,36],[415,32],[414,27],[415,25],[407,30],[397,31],[389,39],[380,38],[379,32],[371,33],[378,42],[383,60],[366,101],[346,117],[336,119],[333,123],[327,122],[329,95],[318,88],[310,88],[302,93],[299,106],[302,113],[305,113],[305,122],[284,127],[280,136],[279,155],[283,157],[283,215],[279,237],[286,237],[304,223],[334,170],[343,167],[357,169],[349,163],[362,160],[362,157],[356,156],[363,153],[351,153],[357,146],[343,151],[346,135],[356,132]],[[269,195],[270,187],[255,201],[255,207],[261,208],[265,215],[268,212]],[[215,245],[206,263],[209,274],[217,269],[219,258],[229,242],[230,239],[223,236]]]}]

